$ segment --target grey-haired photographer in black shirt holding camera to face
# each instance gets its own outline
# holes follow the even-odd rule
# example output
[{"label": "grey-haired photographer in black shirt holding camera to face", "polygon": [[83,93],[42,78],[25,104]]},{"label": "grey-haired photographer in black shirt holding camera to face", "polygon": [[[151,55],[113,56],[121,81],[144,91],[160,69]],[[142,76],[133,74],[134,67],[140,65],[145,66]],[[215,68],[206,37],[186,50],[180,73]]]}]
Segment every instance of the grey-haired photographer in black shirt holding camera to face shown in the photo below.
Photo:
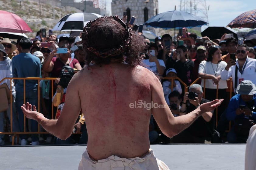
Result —
[{"label": "grey-haired photographer in black shirt holding camera to face", "polygon": [[[189,93],[186,92],[181,105],[180,112],[188,114],[195,110],[199,105],[209,102],[202,98],[203,91],[199,84],[193,84],[189,87]],[[209,140],[213,132],[213,111],[205,112],[192,125],[180,134],[170,139],[171,143],[205,143]]]}]

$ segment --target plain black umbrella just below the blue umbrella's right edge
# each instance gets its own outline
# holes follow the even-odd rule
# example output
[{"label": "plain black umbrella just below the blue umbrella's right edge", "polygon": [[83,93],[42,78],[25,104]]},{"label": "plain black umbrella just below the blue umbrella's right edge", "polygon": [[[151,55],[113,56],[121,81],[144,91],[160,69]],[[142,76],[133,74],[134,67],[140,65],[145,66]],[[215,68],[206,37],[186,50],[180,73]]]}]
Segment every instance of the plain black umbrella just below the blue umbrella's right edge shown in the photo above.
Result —
[{"label": "plain black umbrella just below the blue umbrella's right edge", "polygon": [[211,40],[220,39],[223,34],[233,34],[237,38],[237,34],[225,27],[208,27],[201,32],[202,37],[209,37]]}]

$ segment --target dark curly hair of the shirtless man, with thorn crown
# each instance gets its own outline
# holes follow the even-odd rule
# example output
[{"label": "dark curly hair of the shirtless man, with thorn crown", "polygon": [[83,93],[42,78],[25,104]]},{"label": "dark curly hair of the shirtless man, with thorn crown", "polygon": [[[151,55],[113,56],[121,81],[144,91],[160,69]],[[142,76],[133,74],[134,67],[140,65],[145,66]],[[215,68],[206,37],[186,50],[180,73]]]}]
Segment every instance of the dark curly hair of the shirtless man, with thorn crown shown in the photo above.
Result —
[{"label": "dark curly hair of the shirtless man, with thorn crown", "polygon": [[109,64],[111,59],[126,56],[130,65],[139,65],[140,53],[145,48],[144,39],[137,36],[118,16],[101,17],[89,22],[81,34],[86,51],[85,62]]}]

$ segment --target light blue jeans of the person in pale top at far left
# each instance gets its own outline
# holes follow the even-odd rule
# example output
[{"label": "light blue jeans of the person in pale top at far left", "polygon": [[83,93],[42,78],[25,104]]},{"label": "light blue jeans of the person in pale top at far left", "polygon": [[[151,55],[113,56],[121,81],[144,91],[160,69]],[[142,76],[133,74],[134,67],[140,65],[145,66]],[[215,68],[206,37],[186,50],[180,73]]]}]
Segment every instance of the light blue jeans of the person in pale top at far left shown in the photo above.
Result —
[{"label": "light blue jeans of the person in pale top at far left", "polygon": [[[15,98],[15,96],[13,96],[13,98]],[[0,112],[0,132],[4,132],[4,112]],[[9,120],[11,121],[11,104],[9,104],[9,108],[6,110],[6,112]],[[15,101],[12,102],[12,132],[19,132]],[[3,139],[4,135],[0,135],[0,138]]]}]

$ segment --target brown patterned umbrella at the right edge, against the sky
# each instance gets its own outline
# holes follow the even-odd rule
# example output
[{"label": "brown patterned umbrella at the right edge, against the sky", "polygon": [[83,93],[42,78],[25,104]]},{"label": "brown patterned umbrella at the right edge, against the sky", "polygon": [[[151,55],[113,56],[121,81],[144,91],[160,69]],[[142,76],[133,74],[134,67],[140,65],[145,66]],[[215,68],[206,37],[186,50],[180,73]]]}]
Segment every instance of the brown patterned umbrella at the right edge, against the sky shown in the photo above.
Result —
[{"label": "brown patterned umbrella at the right edge, against the sky", "polygon": [[230,28],[256,28],[256,9],[242,13],[227,26]]}]

